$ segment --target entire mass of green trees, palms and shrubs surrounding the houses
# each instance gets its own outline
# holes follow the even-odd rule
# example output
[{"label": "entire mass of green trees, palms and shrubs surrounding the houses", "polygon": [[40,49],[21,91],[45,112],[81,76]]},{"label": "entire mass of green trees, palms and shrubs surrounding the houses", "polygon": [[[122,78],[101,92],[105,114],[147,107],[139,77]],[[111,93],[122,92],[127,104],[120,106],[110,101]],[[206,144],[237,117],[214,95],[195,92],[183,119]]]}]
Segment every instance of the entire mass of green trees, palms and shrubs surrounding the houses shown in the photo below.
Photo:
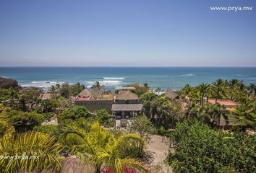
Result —
[{"label": "entire mass of green trees, palms and shrubs surrounding the houses", "polygon": [[[186,85],[176,92],[191,102],[187,107],[166,97],[161,88],[130,86],[140,96],[144,115],[135,117],[125,130],[114,128],[115,120],[106,110],[89,112],[72,105],[74,96],[85,89],[80,83],[51,86],[48,99],[35,87],[0,89],[0,156],[40,156],[30,161],[0,158],[0,172],[60,172],[61,154],[79,156],[96,172],[146,172],[140,159],[145,156],[144,142],[155,131],[171,136],[168,161],[174,172],[255,172],[255,136],[239,132],[255,130],[254,84],[218,79]],[[106,92],[99,82],[92,89],[98,99]],[[231,99],[239,106],[227,110],[209,104],[209,98]],[[232,133],[222,131],[223,118]]]}]

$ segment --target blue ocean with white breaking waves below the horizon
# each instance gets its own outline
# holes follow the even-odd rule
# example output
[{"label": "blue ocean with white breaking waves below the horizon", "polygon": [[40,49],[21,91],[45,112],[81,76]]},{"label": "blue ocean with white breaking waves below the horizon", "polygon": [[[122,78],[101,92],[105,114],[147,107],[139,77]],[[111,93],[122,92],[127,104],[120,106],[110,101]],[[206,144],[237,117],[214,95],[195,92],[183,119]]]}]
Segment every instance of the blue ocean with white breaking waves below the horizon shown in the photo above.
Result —
[{"label": "blue ocean with white breaking waves below the horizon", "polygon": [[256,84],[256,67],[0,67],[0,76],[15,79],[21,86],[43,89],[64,82],[90,87],[100,81],[111,90],[137,82],[148,83],[153,89],[176,90],[185,84],[210,84],[218,78]]}]

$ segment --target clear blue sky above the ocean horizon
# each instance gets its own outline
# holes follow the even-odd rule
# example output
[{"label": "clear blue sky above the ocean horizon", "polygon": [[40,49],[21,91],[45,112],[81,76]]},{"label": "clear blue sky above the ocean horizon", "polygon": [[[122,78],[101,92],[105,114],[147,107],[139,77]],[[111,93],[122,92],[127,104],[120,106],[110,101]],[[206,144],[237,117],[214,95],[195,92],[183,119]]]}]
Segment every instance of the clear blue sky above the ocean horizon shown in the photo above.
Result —
[{"label": "clear blue sky above the ocean horizon", "polygon": [[1,0],[0,66],[256,66],[256,1]]}]

